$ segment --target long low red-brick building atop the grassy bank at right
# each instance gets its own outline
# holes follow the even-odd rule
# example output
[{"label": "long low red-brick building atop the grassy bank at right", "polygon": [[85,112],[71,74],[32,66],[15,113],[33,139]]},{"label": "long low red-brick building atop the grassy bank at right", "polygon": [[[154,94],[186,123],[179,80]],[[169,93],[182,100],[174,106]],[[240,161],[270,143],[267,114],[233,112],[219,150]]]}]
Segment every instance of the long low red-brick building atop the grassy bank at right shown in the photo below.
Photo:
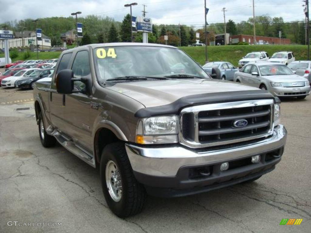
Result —
[{"label": "long low red-brick building atop the grassy bank at right", "polygon": [[[290,39],[267,37],[267,36],[256,36],[257,44],[290,44]],[[254,36],[252,35],[234,35],[230,36],[230,43],[236,44],[239,42],[246,42],[249,44],[254,43]]]}]

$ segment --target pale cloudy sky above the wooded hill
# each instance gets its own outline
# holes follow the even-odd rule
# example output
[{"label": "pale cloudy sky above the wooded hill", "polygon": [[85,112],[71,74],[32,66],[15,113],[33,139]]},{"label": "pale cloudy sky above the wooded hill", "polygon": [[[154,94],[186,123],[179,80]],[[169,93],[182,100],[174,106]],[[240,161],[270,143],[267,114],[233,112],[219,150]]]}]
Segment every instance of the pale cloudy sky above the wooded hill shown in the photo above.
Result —
[{"label": "pale cloudy sky above the wooded hill", "polygon": [[[0,0],[0,23],[26,18],[67,17],[75,11],[82,11],[82,17],[95,14],[122,21],[130,11],[124,7],[127,3],[131,0]],[[137,0],[137,3],[132,7],[133,16],[140,16],[142,5],[146,4],[146,15],[156,24],[204,24],[204,0]],[[207,8],[210,9],[207,22],[223,22],[223,7],[227,10],[226,21],[246,21],[253,16],[252,4],[252,0],[207,0]],[[283,17],[284,21],[304,19],[301,0],[255,0],[255,15]]]}]

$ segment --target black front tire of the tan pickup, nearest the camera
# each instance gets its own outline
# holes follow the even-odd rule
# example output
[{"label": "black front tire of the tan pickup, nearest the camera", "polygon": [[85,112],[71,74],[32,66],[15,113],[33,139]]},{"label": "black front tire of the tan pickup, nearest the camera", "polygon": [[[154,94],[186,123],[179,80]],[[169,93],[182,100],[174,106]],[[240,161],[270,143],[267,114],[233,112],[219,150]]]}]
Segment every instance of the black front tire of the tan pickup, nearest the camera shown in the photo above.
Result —
[{"label": "black front tire of the tan pickup, nearest the camera", "polygon": [[[118,173],[118,177],[121,177],[122,193],[118,201],[115,201],[112,197],[113,194],[109,193],[107,187],[109,184],[106,182],[106,169],[111,161],[116,165],[116,172],[111,171],[111,173]],[[108,172],[108,174],[110,173]],[[146,191],[134,177],[124,143],[112,143],[104,148],[100,159],[100,180],[106,202],[115,215],[124,218],[142,211],[146,200]],[[112,180],[112,178],[108,177],[108,180]]]}]

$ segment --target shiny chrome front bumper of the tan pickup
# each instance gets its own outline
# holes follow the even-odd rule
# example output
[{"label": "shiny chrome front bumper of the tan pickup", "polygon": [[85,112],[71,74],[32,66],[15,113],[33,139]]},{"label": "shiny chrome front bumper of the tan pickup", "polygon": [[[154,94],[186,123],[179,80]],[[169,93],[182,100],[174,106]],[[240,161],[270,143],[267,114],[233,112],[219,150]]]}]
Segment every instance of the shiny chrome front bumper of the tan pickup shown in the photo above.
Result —
[{"label": "shiny chrome front bumper of the tan pickup", "polygon": [[273,135],[259,142],[229,148],[206,148],[190,150],[180,145],[171,147],[145,147],[125,144],[128,158],[134,172],[159,177],[176,176],[183,166],[208,165],[228,162],[262,154],[284,147],[287,131],[283,125],[273,130]]}]

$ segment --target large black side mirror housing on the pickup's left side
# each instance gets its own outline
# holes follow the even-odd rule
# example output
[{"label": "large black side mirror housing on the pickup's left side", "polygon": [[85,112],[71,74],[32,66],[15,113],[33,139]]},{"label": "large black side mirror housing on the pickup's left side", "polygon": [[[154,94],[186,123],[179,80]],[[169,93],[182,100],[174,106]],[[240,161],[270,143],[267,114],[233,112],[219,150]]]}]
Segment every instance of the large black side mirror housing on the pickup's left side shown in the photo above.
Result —
[{"label": "large black side mirror housing on the pickup's left side", "polygon": [[73,71],[62,70],[56,75],[56,89],[60,94],[72,94]]}]

